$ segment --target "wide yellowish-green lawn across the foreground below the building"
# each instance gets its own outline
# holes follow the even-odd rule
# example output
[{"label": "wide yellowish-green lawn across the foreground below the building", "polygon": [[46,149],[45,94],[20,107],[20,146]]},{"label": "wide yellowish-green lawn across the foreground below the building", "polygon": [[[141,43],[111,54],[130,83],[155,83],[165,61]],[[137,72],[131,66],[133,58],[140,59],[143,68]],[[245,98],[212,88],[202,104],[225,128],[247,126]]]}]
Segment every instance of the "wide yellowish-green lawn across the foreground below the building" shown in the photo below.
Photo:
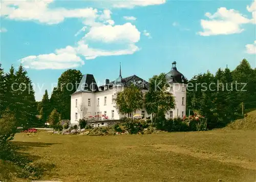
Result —
[{"label": "wide yellowish-green lawn across the foreground below the building", "polygon": [[[256,180],[255,131],[214,130],[90,137],[17,133],[16,145],[54,165],[42,180]],[[18,180],[18,179],[16,179]]]}]

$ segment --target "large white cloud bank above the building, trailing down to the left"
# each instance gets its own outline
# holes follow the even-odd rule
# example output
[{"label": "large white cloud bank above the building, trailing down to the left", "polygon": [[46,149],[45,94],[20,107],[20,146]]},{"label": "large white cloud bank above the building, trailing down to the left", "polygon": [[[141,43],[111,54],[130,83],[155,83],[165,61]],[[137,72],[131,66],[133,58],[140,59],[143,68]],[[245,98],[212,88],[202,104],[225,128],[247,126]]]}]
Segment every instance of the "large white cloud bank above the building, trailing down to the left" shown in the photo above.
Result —
[{"label": "large white cloud bank above the building, trailing down to the left", "polygon": [[[91,48],[88,40],[104,42],[108,50],[102,48]],[[140,49],[135,45],[140,40],[140,32],[131,23],[124,25],[101,25],[92,27],[90,31],[77,42],[77,45],[67,46],[63,49],[55,50],[55,53],[28,56],[19,61],[24,66],[31,69],[67,69],[70,67],[79,67],[84,64],[80,58],[95,59],[100,56],[118,56],[134,54]],[[119,48],[110,50],[111,45],[118,43]]]}]

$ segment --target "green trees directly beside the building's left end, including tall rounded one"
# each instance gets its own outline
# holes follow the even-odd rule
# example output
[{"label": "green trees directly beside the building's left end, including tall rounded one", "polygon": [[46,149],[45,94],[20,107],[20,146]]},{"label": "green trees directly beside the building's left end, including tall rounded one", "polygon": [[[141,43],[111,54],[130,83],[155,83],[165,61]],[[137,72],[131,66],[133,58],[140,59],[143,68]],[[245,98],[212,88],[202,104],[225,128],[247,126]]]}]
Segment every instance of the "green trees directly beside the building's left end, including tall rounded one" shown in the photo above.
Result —
[{"label": "green trees directly beside the building's left end, including tall rounded one", "polygon": [[58,78],[58,83],[53,88],[50,98],[48,90],[45,90],[42,100],[37,103],[37,114],[41,125],[47,122],[55,125],[61,119],[70,120],[71,94],[76,91],[81,78],[80,71],[69,69]]}]

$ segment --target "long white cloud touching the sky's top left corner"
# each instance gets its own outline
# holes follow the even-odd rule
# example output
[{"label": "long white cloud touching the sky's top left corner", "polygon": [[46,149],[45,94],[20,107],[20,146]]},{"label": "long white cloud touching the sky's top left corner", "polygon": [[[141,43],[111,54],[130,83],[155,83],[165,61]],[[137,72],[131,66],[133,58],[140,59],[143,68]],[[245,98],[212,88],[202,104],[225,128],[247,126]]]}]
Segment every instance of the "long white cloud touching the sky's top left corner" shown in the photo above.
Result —
[{"label": "long white cloud touching the sky's top left corner", "polygon": [[[7,1],[2,0],[1,16],[13,20],[34,20],[52,25],[62,22],[65,18],[96,18],[100,16],[97,9],[65,9],[49,8],[53,0],[41,1]],[[105,12],[104,12],[105,13]]]}]

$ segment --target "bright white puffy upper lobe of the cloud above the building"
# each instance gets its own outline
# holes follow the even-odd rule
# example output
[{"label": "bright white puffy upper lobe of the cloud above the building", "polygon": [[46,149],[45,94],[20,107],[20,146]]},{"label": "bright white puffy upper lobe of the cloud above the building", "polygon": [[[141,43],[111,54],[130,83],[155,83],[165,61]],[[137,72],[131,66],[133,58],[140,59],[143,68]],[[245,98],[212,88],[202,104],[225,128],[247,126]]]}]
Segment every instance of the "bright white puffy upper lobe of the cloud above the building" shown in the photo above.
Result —
[{"label": "bright white puffy upper lobe of the cloud above the building", "polygon": [[99,27],[92,27],[83,39],[106,43],[136,43],[140,40],[140,32],[130,22],[116,26],[102,25]]}]

